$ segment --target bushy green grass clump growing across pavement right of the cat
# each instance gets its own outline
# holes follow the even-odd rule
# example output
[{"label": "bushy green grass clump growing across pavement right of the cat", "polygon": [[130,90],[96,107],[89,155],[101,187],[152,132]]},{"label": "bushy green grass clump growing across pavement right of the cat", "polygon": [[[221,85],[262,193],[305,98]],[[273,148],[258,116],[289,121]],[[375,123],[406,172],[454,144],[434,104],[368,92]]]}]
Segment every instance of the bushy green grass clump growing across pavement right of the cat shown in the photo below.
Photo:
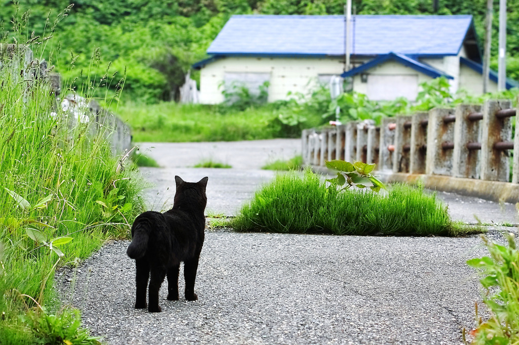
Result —
[{"label": "bushy green grass clump growing across pavement right of the cat", "polygon": [[231,222],[237,231],[337,235],[459,235],[447,207],[423,188],[392,185],[386,194],[326,186],[311,171],[278,175]]}]

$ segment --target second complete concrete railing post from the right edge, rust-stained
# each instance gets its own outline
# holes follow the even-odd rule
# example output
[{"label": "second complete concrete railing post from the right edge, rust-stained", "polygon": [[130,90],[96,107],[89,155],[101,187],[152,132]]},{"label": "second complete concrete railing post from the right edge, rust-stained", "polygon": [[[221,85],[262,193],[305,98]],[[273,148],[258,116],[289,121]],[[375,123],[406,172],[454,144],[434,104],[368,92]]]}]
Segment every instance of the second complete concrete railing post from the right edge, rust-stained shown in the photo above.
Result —
[{"label": "second complete concrete railing post from the right edge, rust-stained", "polygon": [[481,121],[471,114],[481,113],[481,106],[460,104],[456,107],[454,123],[453,176],[477,179],[480,177],[480,150],[468,143],[480,143]]}]

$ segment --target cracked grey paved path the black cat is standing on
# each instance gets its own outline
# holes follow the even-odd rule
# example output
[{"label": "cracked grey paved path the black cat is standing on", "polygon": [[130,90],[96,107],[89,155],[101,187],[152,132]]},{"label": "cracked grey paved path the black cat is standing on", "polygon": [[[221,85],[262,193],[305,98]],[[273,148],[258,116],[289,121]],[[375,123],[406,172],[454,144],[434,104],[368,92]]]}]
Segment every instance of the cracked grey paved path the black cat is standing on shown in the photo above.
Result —
[{"label": "cracked grey paved path the black cat is standing on", "polygon": [[[285,149],[276,147],[282,143]],[[154,148],[152,148],[154,147]],[[209,176],[208,208],[235,214],[258,183],[265,160],[285,159],[298,140],[143,144],[163,168],[143,169],[157,183],[153,209],[170,205],[174,175]],[[148,151],[149,149],[149,151]],[[199,158],[232,169],[194,169]],[[244,163],[248,162],[248,163]],[[167,190],[167,188],[170,188]],[[157,195],[159,193],[159,195]],[[455,219],[516,223],[513,205],[440,193]],[[168,203],[169,201],[169,203]],[[514,228],[503,228],[514,229]],[[484,255],[476,236],[367,237],[208,232],[196,291],[163,312],[134,310],[134,263],[128,241],[110,243],[57,285],[83,310],[84,323],[110,344],[459,344],[481,300],[465,262]],[[71,282],[75,292],[71,293]],[[181,283],[182,289],[183,283]]]}]

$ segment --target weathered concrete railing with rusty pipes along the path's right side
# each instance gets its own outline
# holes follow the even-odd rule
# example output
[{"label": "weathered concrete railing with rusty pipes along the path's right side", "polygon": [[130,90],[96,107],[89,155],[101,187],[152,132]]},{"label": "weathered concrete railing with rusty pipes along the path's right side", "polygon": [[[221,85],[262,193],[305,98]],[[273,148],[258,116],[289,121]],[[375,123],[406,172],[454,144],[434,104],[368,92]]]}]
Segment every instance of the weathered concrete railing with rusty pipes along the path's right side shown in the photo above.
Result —
[{"label": "weathered concrete railing with rusty pipes along the path's right side", "polygon": [[379,127],[350,122],[305,130],[303,161],[325,171],[325,161],[344,156],[377,163],[375,175],[386,182],[422,181],[428,188],[517,203],[517,111],[510,100],[487,100],[483,106],[385,118]]}]

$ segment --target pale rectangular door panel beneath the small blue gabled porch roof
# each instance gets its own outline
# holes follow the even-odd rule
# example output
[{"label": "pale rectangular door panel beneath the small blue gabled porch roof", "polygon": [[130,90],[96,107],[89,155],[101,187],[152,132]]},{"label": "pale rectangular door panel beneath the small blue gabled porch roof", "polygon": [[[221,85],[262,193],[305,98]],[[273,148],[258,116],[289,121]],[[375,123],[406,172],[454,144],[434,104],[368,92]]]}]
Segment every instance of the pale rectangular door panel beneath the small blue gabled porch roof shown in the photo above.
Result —
[{"label": "pale rectangular door panel beneath the small blue gabled porch roof", "polygon": [[371,100],[393,100],[405,97],[414,101],[418,96],[418,75],[367,76],[367,98]]}]

